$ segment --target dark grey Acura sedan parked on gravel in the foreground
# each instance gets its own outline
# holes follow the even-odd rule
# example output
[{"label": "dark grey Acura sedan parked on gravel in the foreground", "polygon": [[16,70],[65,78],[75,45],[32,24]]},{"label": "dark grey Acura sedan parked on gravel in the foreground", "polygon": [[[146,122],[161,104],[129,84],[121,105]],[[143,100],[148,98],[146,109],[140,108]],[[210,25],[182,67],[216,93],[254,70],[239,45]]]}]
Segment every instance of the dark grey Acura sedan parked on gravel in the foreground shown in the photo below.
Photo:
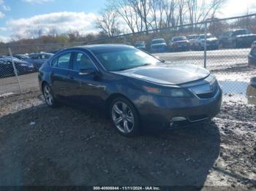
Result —
[{"label": "dark grey Acura sedan parked on gravel in the foreground", "polygon": [[222,105],[222,90],[206,69],[165,64],[122,44],[58,52],[39,69],[39,85],[48,106],[104,109],[124,136],[210,120]]}]

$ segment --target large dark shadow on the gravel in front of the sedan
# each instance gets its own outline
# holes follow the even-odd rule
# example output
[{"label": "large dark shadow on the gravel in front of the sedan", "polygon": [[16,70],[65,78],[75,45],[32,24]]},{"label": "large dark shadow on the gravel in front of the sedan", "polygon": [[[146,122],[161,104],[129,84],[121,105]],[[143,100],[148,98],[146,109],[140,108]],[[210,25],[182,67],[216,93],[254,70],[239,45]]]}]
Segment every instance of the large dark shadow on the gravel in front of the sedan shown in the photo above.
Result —
[{"label": "large dark shadow on the gravel in front of the sedan", "polygon": [[0,127],[1,186],[202,187],[219,156],[214,122],[128,139],[97,112],[41,104]]}]

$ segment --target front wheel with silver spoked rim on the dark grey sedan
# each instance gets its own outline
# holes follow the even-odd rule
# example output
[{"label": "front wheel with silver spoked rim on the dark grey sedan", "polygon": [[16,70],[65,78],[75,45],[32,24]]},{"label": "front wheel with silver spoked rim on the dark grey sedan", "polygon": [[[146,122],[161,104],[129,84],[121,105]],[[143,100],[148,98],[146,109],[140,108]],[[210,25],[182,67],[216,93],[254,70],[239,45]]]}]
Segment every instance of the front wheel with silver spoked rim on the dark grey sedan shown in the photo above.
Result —
[{"label": "front wheel with silver spoked rim on the dark grey sedan", "polygon": [[131,137],[139,133],[139,116],[135,106],[127,98],[115,98],[110,104],[110,117],[118,133]]}]

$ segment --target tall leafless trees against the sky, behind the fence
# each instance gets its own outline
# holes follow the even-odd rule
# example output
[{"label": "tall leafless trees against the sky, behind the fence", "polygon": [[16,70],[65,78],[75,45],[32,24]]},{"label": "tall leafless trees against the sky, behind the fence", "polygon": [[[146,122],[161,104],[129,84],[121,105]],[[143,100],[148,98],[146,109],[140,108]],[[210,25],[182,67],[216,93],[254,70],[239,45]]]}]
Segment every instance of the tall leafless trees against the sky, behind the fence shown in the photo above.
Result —
[{"label": "tall leafless trees against the sky, behind the fence", "polygon": [[215,18],[226,0],[110,0],[97,27],[108,36],[182,26]]}]

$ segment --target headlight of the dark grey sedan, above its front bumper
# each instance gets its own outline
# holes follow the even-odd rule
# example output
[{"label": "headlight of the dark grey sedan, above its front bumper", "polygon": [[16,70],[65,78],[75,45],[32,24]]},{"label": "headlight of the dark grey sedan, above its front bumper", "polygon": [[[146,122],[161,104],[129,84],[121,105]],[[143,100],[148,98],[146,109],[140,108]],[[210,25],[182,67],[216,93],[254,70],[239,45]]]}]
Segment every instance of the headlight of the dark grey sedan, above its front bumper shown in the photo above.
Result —
[{"label": "headlight of the dark grey sedan, above its front bumper", "polygon": [[165,87],[165,88],[158,88],[158,87],[148,87],[143,86],[143,89],[146,90],[147,93],[153,93],[162,96],[169,96],[173,98],[189,98],[190,95],[187,93],[186,90],[181,88],[173,88],[173,87]]}]

